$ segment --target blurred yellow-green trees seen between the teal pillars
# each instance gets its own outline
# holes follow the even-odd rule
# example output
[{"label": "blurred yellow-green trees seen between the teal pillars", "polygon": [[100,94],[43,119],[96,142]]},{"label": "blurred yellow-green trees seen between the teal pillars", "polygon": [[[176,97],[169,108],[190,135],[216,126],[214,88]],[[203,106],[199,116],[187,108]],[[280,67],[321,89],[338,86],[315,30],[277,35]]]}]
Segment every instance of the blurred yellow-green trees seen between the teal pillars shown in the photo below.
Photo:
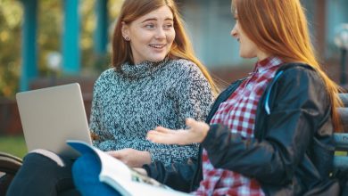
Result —
[{"label": "blurred yellow-green trees seen between the teal pillars", "polygon": [[[102,57],[94,53],[95,1],[79,1],[81,74],[94,76],[110,66],[111,48],[109,45],[109,53]],[[122,2],[123,0],[108,1],[109,32],[112,32]],[[18,91],[21,74],[22,15],[23,8],[20,1],[0,0],[0,97],[11,98]],[[37,19],[37,66],[39,76],[46,77],[50,74],[47,55],[61,51],[62,1],[38,0]],[[61,73],[59,77],[62,77]]]}]

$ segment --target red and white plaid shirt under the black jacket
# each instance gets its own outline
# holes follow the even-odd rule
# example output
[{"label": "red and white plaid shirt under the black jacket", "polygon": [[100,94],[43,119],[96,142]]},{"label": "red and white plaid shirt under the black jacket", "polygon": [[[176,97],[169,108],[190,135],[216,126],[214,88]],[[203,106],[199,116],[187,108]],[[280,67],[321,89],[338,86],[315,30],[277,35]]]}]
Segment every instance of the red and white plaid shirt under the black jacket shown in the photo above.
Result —
[{"label": "red and white plaid shirt under the black jacket", "polygon": [[[277,57],[259,61],[254,71],[236,88],[211,119],[211,124],[228,126],[233,134],[253,138],[257,104],[282,63]],[[264,195],[260,184],[236,172],[214,168],[203,150],[203,181],[195,195]]]}]

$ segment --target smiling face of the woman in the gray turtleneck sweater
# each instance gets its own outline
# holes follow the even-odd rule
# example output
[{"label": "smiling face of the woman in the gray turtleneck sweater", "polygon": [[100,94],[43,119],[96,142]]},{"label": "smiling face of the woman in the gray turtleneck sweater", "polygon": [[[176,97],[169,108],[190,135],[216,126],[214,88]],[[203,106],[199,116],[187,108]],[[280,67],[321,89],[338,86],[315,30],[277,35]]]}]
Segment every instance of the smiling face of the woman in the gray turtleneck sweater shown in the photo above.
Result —
[{"label": "smiling face of the woman in the gray turtleneck sweater", "polygon": [[135,64],[162,61],[175,38],[173,13],[165,5],[129,24],[122,23],[122,36],[130,42]]}]

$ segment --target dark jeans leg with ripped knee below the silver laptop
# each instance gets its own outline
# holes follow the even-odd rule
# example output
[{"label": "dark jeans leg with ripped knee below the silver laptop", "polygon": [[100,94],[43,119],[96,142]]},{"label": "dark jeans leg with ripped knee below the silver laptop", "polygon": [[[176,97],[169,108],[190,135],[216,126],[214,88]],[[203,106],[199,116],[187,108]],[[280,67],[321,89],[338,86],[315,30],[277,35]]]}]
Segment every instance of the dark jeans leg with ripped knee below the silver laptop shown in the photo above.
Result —
[{"label": "dark jeans leg with ripped knee below the silver laptop", "polygon": [[39,153],[29,153],[12,180],[8,196],[80,195],[72,181],[73,160],[62,158],[64,166]]}]

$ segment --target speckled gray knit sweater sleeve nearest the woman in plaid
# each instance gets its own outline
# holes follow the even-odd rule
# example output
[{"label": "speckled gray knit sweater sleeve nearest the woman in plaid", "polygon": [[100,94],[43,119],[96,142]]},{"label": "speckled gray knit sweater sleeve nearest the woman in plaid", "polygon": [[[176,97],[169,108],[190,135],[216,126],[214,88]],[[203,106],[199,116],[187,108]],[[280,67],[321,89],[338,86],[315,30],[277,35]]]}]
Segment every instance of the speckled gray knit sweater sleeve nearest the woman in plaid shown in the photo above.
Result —
[{"label": "speckled gray knit sweater sleeve nearest the woman in plaid", "polygon": [[[187,128],[186,118],[203,121],[213,102],[211,86],[201,70],[190,61],[183,62],[176,73],[179,76],[177,84],[172,89],[177,102],[177,108],[173,112],[177,114],[179,128]],[[173,161],[185,161],[189,157],[195,157],[198,153],[198,144],[171,145],[171,148],[159,144],[151,149],[150,153],[152,161],[160,160],[170,164]]]}]

